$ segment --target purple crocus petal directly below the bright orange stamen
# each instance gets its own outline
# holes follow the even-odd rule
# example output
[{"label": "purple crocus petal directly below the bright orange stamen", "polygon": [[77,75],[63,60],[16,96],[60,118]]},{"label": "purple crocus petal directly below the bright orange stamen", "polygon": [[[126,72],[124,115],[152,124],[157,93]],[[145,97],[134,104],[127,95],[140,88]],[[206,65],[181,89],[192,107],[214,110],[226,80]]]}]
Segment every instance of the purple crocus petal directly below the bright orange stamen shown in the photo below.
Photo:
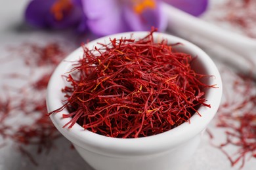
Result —
[{"label": "purple crocus petal directly below the bright orange stamen", "polygon": [[125,20],[133,31],[148,31],[152,26],[162,31],[167,25],[165,15],[158,3],[154,9],[144,9],[141,14],[137,14],[128,6],[125,6],[123,11]]}]

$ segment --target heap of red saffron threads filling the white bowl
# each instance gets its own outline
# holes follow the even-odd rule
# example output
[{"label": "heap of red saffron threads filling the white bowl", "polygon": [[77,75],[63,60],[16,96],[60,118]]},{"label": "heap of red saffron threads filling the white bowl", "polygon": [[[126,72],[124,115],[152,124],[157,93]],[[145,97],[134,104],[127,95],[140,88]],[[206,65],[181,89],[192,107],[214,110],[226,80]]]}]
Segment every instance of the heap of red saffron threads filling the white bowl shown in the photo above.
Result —
[{"label": "heap of red saffron threads filling the white bowl", "polygon": [[[89,50],[66,76],[70,86],[62,89],[66,104],[50,112],[68,109],[63,118],[100,135],[137,138],[173,129],[210,107],[205,88],[191,68],[195,58],[175,52],[167,41],[154,42],[153,32],[134,39],[110,39],[109,44]],[[97,54],[95,54],[97,53]],[[200,114],[200,113],[198,113]]]}]

